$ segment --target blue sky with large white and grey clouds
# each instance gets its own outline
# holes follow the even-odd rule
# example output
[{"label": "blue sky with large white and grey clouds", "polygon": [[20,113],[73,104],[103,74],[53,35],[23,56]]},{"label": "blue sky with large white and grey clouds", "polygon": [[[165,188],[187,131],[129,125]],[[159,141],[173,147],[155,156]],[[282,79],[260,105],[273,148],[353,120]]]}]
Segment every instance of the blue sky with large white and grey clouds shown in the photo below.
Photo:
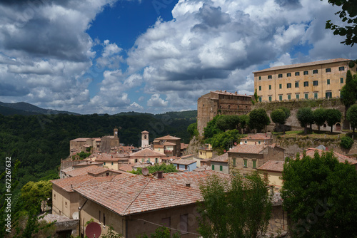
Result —
[{"label": "blue sky with large white and grey clouds", "polygon": [[0,101],[74,113],[196,110],[211,90],[253,94],[254,71],[356,46],[326,0],[2,0]]}]

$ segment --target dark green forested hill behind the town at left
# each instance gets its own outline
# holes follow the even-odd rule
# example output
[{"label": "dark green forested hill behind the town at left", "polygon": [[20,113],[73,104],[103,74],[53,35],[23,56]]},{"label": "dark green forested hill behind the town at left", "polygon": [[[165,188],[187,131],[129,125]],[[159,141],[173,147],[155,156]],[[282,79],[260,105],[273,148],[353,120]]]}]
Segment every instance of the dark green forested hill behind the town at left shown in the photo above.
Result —
[{"label": "dark green forested hill behind the town at left", "polygon": [[[188,143],[187,127],[196,118],[175,118],[170,114],[155,115],[0,115],[0,171],[5,171],[5,158],[21,161],[20,184],[57,175],[61,158],[69,155],[69,141],[81,137],[113,135],[119,129],[120,143],[141,145],[141,131],[149,139],[164,135],[182,138]],[[2,192],[2,191],[0,191]]]}]

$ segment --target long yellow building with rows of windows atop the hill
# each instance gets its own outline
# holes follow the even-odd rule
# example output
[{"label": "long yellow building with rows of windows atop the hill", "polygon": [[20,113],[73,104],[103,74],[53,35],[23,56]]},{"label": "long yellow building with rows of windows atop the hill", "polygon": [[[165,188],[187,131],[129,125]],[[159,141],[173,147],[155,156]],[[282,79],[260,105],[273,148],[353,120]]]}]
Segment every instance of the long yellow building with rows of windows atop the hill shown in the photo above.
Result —
[{"label": "long yellow building with rows of windows atop the hill", "polygon": [[260,102],[338,98],[346,83],[347,58],[266,68],[254,73],[254,90]]}]

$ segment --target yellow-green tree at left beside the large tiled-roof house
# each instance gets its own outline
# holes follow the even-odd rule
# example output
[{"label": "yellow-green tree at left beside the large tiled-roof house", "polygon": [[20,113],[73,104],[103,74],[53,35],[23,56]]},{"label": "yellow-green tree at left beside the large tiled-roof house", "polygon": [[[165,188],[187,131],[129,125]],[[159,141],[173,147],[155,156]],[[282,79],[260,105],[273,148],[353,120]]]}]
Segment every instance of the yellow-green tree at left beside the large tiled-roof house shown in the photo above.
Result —
[{"label": "yellow-green tree at left beside the large tiled-roof house", "polygon": [[21,188],[21,199],[26,201],[27,206],[40,205],[41,210],[44,211],[48,202],[52,200],[52,183],[49,181],[28,182]]}]

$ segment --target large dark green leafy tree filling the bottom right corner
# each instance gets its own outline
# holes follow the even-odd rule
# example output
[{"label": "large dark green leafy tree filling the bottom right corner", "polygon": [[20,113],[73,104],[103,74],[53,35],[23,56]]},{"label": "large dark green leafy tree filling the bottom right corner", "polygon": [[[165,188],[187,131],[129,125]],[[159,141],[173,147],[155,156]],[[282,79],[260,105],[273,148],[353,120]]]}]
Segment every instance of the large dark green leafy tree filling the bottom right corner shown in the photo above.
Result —
[{"label": "large dark green leafy tree filling the bottom right corner", "polygon": [[296,237],[357,236],[357,172],[333,152],[303,154],[283,167],[283,207]]}]

